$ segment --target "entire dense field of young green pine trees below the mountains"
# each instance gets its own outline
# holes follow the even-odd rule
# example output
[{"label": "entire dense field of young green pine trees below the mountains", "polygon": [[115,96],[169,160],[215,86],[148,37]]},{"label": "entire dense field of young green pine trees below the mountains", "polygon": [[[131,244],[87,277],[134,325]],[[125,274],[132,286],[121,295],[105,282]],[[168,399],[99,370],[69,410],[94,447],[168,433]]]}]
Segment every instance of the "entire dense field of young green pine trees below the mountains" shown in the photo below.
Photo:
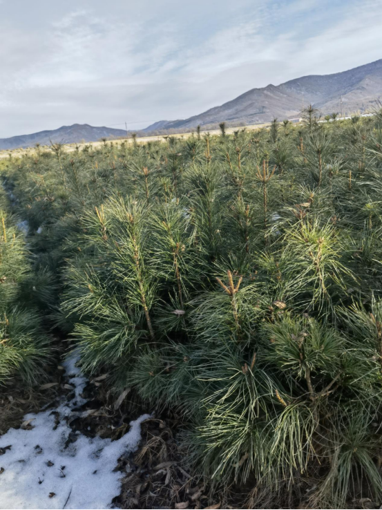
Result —
[{"label": "entire dense field of young green pine trees below the mountains", "polygon": [[0,381],[41,383],[59,331],[182,416],[212,487],[381,503],[382,111],[220,128],[3,164]]}]

